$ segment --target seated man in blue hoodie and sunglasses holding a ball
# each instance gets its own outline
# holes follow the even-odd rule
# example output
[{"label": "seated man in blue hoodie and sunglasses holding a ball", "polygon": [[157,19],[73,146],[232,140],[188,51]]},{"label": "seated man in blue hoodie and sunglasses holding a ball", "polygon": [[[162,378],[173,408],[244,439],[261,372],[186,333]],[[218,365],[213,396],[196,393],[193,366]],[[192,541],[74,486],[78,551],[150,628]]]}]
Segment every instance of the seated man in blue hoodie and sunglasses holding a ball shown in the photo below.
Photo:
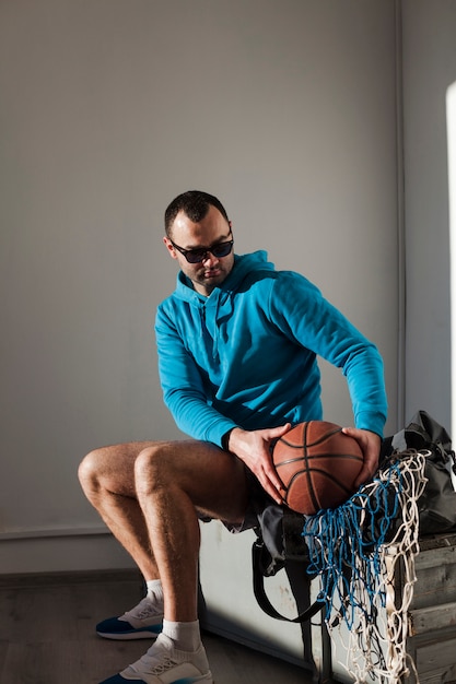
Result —
[{"label": "seated man in blue hoodie and sunglasses holding a ball", "polygon": [[180,271],[156,315],[160,377],[192,439],[106,447],[81,464],[87,498],[148,586],[138,606],[97,633],[156,637],[103,684],[212,682],[197,616],[199,518],[242,531],[255,524],[254,502],[282,502],[270,449],[291,425],[321,420],[316,355],[347,376],[355,427],[344,429],[364,453],[359,484],[376,469],[386,418],[375,346],[302,275],[276,271],[262,251],[236,256],[217,198],[178,196],[165,229]]}]

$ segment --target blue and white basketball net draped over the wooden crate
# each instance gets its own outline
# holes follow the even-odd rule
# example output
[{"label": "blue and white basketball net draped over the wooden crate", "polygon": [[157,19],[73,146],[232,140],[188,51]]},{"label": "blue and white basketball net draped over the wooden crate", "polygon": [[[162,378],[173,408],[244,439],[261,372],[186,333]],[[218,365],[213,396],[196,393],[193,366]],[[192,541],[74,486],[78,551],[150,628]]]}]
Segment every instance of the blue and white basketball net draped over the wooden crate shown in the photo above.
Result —
[{"label": "blue and white basketball net draped over the wooden crate", "polygon": [[320,576],[326,625],[335,647],[336,633],[346,641],[347,662],[339,664],[354,684],[399,684],[410,671],[417,675],[406,641],[426,453],[394,453],[347,504],[304,523],[307,571]]}]

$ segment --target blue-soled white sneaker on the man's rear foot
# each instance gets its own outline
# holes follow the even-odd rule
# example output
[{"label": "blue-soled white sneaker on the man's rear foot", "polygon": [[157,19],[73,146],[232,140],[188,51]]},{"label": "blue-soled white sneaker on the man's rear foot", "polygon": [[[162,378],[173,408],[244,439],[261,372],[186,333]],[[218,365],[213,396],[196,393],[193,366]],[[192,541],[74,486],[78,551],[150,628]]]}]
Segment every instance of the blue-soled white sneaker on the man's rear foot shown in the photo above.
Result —
[{"label": "blue-soled white sneaker on the man's rear foot", "polygon": [[163,608],[149,597],[120,617],[108,617],[96,625],[105,639],[154,639],[162,632]]}]

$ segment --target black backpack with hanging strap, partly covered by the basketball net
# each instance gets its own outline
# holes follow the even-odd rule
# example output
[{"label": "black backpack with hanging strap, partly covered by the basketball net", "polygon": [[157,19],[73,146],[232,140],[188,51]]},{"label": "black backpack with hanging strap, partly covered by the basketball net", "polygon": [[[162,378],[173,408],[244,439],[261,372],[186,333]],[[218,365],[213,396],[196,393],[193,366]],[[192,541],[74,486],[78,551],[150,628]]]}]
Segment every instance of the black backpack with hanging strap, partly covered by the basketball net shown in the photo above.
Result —
[{"label": "black backpack with hanging strap, partly covered by the basketball net", "polygon": [[[391,458],[410,449],[429,451],[424,475],[428,479],[419,498],[420,536],[441,534],[456,530],[456,492],[453,488],[448,465],[456,473],[455,453],[447,432],[425,411],[419,411],[411,423],[382,443],[379,469],[388,467]],[[389,463],[388,463],[389,461]],[[302,564],[305,578],[309,564],[308,549],[302,535],[305,516],[285,506],[270,504],[257,512],[257,539],[253,546],[254,593],[260,608],[278,620],[302,623],[313,617],[325,606],[315,601],[295,618],[281,615],[270,603],[265,591],[265,577],[276,575],[289,562]],[[365,541],[371,541],[372,530],[364,531]]]}]

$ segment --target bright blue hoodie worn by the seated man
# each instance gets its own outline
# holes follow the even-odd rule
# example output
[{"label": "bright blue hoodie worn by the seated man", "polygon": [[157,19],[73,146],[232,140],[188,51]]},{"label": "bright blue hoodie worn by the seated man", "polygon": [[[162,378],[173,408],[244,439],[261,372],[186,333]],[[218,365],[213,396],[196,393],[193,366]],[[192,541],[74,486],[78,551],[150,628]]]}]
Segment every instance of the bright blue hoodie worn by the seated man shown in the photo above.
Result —
[{"label": "bright blue hoodie worn by the seated man", "polygon": [[321,420],[317,355],[347,377],[354,425],[383,435],[383,362],[303,275],[265,251],[235,256],[209,297],[180,271],[155,320],[164,401],[191,437],[222,445],[233,427]]}]

